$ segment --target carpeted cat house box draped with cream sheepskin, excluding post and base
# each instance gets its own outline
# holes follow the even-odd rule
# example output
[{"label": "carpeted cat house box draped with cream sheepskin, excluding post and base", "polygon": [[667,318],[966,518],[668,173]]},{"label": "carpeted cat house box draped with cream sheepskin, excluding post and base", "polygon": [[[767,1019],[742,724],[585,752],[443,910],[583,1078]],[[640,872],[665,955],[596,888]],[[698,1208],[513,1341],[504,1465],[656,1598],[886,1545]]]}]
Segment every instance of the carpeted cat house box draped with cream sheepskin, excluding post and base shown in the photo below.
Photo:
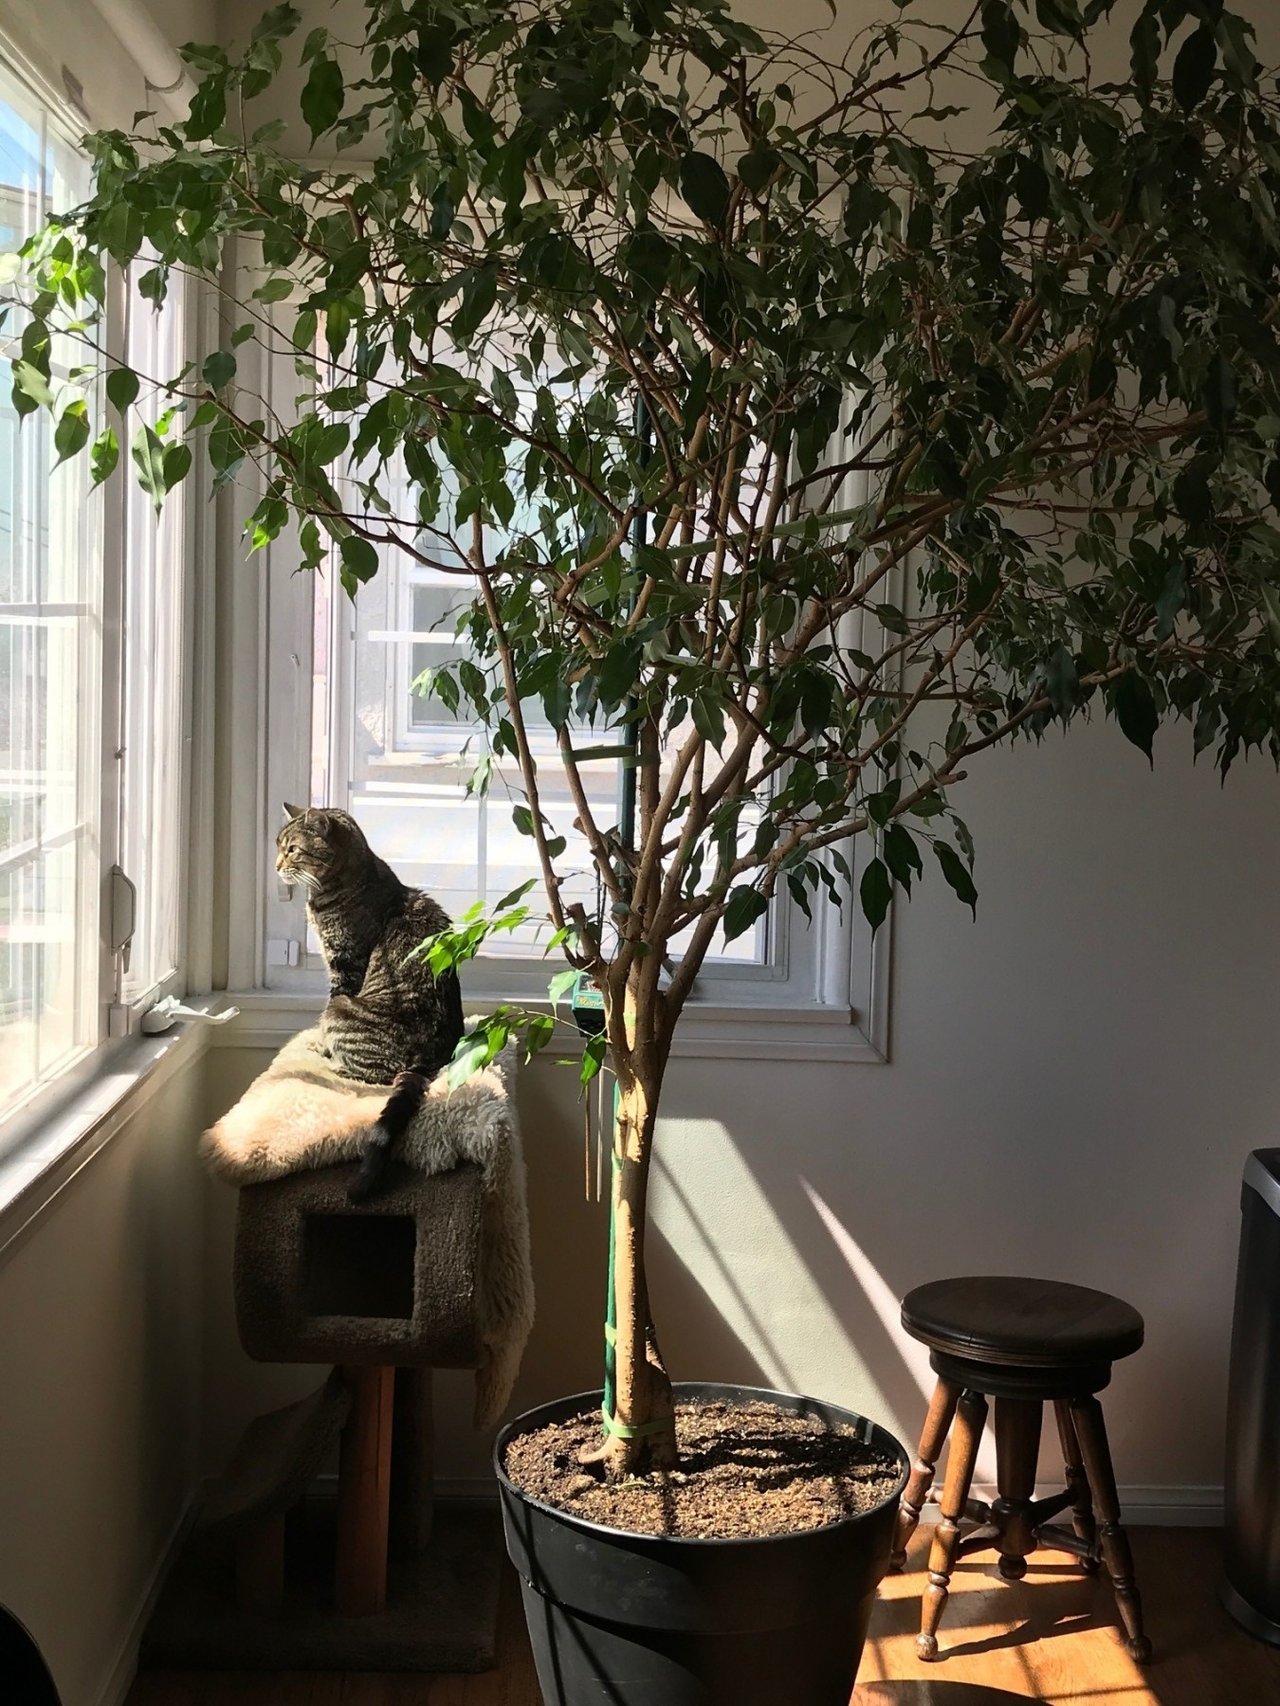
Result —
[{"label": "carpeted cat house box draped with cream sheepskin, excluding post and base", "polygon": [[343,1078],[304,1030],[205,1133],[241,1186],[236,1317],[259,1361],[476,1370],[476,1426],[507,1406],[532,1326],[515,1051],[449,1090],[435,1078],[391,1187],[346,1199],[391,1094]]}]

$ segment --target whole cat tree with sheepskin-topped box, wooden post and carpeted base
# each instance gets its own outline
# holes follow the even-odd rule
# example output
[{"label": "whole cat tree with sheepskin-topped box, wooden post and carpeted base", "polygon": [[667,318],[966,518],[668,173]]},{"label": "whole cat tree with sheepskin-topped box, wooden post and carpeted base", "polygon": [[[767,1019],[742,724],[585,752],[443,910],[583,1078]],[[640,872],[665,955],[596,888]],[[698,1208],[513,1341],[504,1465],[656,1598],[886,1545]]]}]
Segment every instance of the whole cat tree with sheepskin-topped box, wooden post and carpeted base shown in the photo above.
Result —
[{"label": "whole cat tree with sheepskin-topped box, wooden post and carpeted base", "polygon": [[[246,1353],[333,1372],[246,1430],[157,1605],[147,1663],[493,1662],[493,1520],[433,1513],[430,1375],[474,1370],[474,1421],[490,1428],[532,1326],[514,1068],[507,1049],[452,1092],[433,1080],[365,1203],[346,1189],[389,1087],[343,1078],[316,1030],[205,1133],[205,1162],[239,1187],[232,1286]],[[304,1494],[335,1447],[335,1532],[317,1532]]]}]

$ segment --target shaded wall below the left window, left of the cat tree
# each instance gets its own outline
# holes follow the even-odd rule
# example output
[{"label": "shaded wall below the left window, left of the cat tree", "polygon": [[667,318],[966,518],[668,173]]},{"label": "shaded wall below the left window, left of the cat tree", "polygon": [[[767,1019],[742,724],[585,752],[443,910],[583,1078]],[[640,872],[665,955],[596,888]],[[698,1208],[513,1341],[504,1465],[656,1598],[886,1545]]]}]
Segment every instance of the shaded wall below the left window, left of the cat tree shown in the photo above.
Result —
[{"label": "shaded wall below the left window, left of the cat tree", "polygon": [[198,1486],[198,1088],[193,1051],[0,1257],[0,1605],[63,1706],[114,1706]]}]

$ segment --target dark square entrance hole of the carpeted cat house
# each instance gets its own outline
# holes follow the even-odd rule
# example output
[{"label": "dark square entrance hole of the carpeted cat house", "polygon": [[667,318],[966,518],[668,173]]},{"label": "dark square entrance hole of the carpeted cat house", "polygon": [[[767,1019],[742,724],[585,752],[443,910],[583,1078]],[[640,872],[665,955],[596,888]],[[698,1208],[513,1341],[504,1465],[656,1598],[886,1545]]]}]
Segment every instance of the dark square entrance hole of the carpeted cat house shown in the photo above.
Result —
[{"label": "dark square entrance hole of the carpeted cat house", "polygon": [[416,1228],[410,1215],[305,1215],[305,1312],[410,1320],[415,1247]]}]

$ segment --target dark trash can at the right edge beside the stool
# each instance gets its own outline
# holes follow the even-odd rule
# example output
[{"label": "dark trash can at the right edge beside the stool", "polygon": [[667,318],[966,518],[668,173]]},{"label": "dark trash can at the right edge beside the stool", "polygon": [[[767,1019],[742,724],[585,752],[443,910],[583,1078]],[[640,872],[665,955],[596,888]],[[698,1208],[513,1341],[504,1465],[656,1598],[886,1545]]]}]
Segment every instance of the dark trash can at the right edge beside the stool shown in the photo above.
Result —
[{"label": "dark trash can at the right edge beside the stool", "polygon": [[1225,1498],[1222,1604],[1280,1645],[1280,1150],[1244,1165]]}]

